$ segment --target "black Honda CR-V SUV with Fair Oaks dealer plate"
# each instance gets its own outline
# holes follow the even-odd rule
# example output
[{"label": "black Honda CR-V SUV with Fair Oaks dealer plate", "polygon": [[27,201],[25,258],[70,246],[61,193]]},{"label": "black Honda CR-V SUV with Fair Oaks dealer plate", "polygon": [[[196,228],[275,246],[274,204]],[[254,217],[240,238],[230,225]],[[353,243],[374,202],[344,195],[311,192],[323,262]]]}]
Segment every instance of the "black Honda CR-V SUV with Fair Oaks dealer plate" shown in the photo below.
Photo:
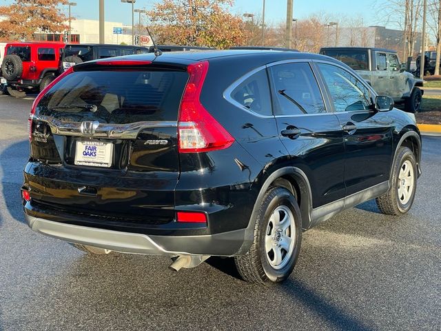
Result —
[{"label": "black Honda CR-V SUV with Fair Oaks dealer plate", "polygon": [[406,213],[413,114],[343,63],[227,50],[82,63],[35,100],[22,188],[32,230],[85,252],[234,257],[279,282],[302,231],[376,198]]}]

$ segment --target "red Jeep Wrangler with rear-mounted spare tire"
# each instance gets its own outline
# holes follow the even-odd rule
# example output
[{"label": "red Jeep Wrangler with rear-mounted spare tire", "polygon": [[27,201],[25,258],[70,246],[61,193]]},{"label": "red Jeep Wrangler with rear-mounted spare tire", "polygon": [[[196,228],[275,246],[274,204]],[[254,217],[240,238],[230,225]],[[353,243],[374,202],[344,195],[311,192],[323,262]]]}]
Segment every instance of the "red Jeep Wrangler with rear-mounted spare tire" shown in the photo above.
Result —
[{"label": "red Jeep Wrangler with rear-mounted spare tire", "polygon": [[57,77],[64,43],[8,43],[1,68],[13,97],[39,92]]}]

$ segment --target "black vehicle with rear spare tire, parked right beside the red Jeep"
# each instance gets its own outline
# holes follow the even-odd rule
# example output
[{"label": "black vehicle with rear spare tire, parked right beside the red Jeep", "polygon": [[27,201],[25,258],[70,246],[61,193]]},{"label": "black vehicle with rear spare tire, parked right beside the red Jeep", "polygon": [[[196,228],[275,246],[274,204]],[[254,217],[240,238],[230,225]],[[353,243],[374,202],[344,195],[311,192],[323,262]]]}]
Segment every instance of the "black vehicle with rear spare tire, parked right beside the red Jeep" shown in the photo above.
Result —
[{"label": "black vehicle with rear spare tire, parked right beside the red Jeep", "polygon": [[74,43],[64,48],[62,68],[68,70],[78,63],[109,57],[121,57],[123,55],[144,54],[150,52],[150,48],[142,46],[112,45],[102,43]]}]

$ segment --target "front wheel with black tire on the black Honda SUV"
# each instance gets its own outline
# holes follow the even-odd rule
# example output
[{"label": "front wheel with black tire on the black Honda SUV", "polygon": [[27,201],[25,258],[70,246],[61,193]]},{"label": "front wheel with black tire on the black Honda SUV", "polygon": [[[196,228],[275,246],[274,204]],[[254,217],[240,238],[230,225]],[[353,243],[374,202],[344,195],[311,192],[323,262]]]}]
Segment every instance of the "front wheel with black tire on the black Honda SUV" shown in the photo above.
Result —
[{"label": "front wheel with black tire on the black Honda SUV", "polygon": [[[400,172],[404,171],[404,164],[407,166],[411,166],[411,171],[413,175],[411,179],[406,177],[405,184],[403,185],[402,179],[400,179]],[[415,159],[415,155],[413,152],[407,147],[400,147],[398,150],[398,154],[396,160],[393,163],[392,172],[391,172],[391,188],[389,192],[383,194],[381,197],[376,199],[376,203],[378,205],[378,209],[380,212],[387,215],[400,216],[402,214],[406,214],[412,207],[413,200],[415,199],[416,193],[416,184],[418,177],[418,167]],[[407,189],[407,184],[411,184],[412,188],[410,191]],[[403,190],[409,192],[409,199],[403,199],[404,195],[402,194]]]}]

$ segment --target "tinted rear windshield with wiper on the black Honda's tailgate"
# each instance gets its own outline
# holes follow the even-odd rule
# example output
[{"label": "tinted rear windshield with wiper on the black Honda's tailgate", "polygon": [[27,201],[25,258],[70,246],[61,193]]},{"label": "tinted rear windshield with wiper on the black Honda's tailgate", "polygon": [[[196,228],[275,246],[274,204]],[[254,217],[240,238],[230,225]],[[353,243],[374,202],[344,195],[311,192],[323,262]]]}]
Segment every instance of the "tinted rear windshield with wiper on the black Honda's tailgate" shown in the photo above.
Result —
[{"label": "tinted rear windshield with wiper on the black Honda's tailgate", "polygon": [[100,123],[177,121],[187,72],[73,72],[41,99],[37,114]]}]

